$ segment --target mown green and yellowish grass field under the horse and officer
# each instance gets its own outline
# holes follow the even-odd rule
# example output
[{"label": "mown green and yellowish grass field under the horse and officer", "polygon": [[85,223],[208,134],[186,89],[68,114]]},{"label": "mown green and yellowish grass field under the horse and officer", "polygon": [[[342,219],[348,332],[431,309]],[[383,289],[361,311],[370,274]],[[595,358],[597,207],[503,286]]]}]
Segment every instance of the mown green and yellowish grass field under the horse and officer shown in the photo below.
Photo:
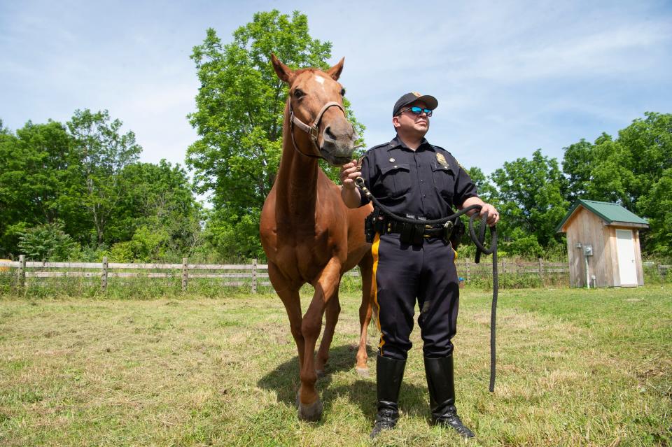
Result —
[{"label": "mown green and yellowish grass field under the horse and officer", "polygon": [[[458,410],[477,438],[428,425],[416,328],[400,423],[374,445],[672,445],[671,285],[500,292],[493,394],[489,299],[463,294],[454,339]],[[323,418],[303,423],[296,349],[274,295],[2,299],[0,445],[372,444],[374,374],[353,369],[358,299],[341,301],[318,381]]]}]

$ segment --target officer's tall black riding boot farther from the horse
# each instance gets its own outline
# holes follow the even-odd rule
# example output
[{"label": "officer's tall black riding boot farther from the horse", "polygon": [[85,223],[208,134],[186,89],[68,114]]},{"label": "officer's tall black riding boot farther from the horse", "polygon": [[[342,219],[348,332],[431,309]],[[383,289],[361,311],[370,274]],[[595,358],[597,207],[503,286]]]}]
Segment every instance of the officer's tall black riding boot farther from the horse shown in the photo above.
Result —
[{"label": "officer's tall black riding boot farther from the horse", "polygon": [[465,427],[457,416],[452,355],[436,359],[425,357],[425,374],[429,388],[432,423],[453,427],[462,437],[474,437],[473,432]]}]

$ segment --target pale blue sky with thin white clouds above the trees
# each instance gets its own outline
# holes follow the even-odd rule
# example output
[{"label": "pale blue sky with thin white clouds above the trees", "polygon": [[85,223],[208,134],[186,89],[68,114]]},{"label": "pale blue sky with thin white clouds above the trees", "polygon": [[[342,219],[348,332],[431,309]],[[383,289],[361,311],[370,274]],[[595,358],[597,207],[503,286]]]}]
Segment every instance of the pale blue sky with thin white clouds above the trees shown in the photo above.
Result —
[{"label": "pale blue sky with thin white clouds above the trees", "polygon": [[189,56],[259,10],[297,9],[345,57],[341,81],[368,146],[393,137],[401,94],[433,94],[430,142],[485,173],[538,148],[672,112],[672,2],[0,0],[0,119],[66,122],[108,109],[141,159],[184,164],[198,82]]}]

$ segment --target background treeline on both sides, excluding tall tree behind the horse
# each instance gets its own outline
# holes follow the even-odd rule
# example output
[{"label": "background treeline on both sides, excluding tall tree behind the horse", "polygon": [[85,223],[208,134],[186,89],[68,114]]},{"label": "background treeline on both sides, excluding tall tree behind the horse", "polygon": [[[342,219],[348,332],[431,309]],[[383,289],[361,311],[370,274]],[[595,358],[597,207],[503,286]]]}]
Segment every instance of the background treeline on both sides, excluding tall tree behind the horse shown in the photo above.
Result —
[{"label": "background treeline on both sides, excluding tall tree behind the horse", "polygon": [[[231,192],[229,200],[220,195],[213,209],[204,209],[186,171],[165,160],[139,162],[141,148],[133,132],[120,133],[121,125],[106,111],[88,110],[65,125],[27,122],[16,132],[0,122],[0,257],[263,259],[263,190],[247,191],[246,198]],[[672,257],[671,114],[645,113],[616,138],[571,144],[561,162],[536,150],[489,176],[477,167],[468,171],[479,194],[500,210],[502,255],[563,257],[556,227],[582,198],[617,202],[647,218],[650,229],[640,233],[645,255]],[[236,208],[228,206],[233,199]],[[473,249],[465,238],[464,255]]]}]

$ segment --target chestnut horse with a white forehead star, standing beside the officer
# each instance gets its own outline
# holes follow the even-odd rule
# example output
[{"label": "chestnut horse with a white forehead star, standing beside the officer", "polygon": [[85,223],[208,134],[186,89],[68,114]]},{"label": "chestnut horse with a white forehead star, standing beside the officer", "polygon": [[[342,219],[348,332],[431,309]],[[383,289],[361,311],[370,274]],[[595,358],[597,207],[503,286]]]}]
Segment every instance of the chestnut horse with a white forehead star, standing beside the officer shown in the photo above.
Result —
[{"label": "chestnut horse with a white forehead star, standing beside the officer", "polygon": [[[276,74],[289,85],[289,97],[282,158],[261,212],[260,234],[268,259],[268,276],[285,305],[299,353],[301,387],[297,403],[298,416],[304,420],[321,417],[322,403],[315,382],[324,373],[329,357],[340,312],[341,277],[356,265],[363,282],[356,367],[360,374],[367,371],[373,260],[371,246],[364,239],[364,218],[372,208],[347,208],[340,188],[318,166],[319,158],[335,166],[349,162],[357,139],[345,116],[344,89],[337,82],[343,60],[327,71],[293,71],[272,55]],[[302,317],[299,289],[305,283],[315,291]],[[324,334],[315,358],[325,314]]]}]

